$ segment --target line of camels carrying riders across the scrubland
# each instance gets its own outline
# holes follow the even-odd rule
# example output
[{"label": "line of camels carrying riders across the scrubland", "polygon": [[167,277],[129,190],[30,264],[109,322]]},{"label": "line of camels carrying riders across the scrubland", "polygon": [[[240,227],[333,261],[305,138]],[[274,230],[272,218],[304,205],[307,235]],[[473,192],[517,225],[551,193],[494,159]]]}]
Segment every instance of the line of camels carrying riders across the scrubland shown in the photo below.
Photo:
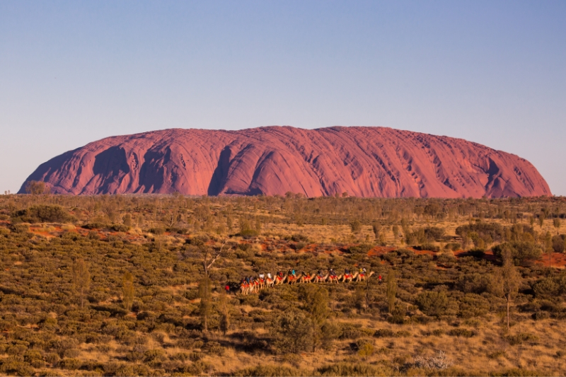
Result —
[{"label": "line of camels carrying riders across the scrubland", "polygon": [[279,284],[306,284],[306,283],[351,283],[363,282],[373,275],[374,272],[354,272],[353,274],[346,270],[344,274],[335,274],[332,269],[326,274],[318,272],[318,274],[304,274],[289,271],[287,274],[277,272],[277,274],[260,274],[259,277],[248,277],[240,282],[239,292],[243,295],[258,293],[261,289],[270,288]]}]

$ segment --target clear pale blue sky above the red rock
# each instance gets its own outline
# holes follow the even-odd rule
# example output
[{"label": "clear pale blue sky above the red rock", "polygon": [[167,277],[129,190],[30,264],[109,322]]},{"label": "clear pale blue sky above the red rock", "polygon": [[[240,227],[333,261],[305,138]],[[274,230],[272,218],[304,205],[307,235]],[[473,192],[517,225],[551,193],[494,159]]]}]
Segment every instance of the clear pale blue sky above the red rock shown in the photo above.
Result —
[{"label": "clear pale blue sky above the red rock", "polygon": [[566,195],[566,1],[0,0],[0,192],[102,137],[272,124],[461,137]]}]

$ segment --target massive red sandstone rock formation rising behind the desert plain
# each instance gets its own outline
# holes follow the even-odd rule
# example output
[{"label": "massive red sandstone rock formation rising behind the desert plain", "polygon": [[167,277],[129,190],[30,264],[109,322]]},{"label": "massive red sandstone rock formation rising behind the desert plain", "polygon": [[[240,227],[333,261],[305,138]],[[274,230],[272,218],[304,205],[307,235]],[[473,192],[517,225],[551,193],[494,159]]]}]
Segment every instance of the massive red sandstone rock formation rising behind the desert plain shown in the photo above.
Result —
[{"label": "massive red sandstone rock formation rising behind the desert plain", "polygon": [[551,195],[524,158],[384,127],[164,129],[108,137],[42,163],[29,180],[71,195]]}]

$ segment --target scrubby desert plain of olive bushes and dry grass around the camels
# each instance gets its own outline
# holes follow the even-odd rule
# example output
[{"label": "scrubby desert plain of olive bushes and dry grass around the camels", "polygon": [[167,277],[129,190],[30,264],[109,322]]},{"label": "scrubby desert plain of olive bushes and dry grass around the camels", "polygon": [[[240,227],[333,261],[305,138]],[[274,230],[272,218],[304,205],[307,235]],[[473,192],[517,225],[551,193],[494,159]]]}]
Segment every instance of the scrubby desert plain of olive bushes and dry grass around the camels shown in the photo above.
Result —
[{"label": "scrubby desert plain of olive bushes and dry grass around the camels", "polygon": [[[0,195],[0,373],[563,376],[565,216],[561,197]],[[237,293],[330,267],[375,274]]]}]

